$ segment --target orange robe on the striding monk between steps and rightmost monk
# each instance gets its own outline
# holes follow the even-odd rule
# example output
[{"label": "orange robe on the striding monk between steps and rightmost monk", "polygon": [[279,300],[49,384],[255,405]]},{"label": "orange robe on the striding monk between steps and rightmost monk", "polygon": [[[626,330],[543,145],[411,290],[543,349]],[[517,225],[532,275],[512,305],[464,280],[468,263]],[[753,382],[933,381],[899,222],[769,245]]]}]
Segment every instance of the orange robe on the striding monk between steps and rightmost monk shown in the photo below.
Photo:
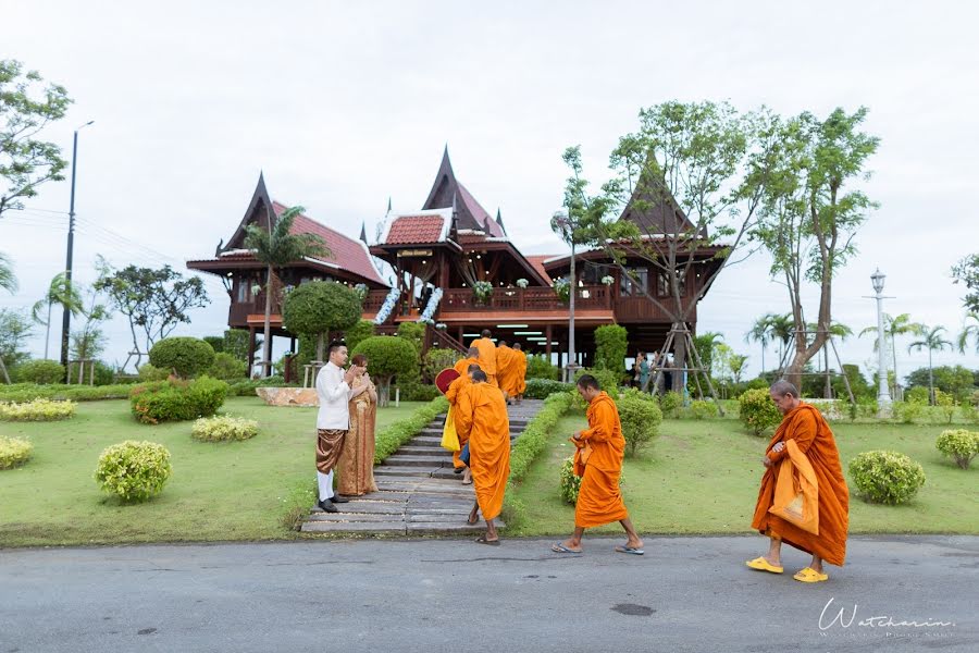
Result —
[{"label": "orange robe on the striding monk between steps and rightmost monk", "polygon": [[581,440],[592,447],[592,455],[581,477],[581,490],[574,506],[574,526],[591,528],[629,517],[622,502],[619,477],[625,457],[625,438],[619,421],[619,409],[603,391],[588,404],[588,429]]}]

